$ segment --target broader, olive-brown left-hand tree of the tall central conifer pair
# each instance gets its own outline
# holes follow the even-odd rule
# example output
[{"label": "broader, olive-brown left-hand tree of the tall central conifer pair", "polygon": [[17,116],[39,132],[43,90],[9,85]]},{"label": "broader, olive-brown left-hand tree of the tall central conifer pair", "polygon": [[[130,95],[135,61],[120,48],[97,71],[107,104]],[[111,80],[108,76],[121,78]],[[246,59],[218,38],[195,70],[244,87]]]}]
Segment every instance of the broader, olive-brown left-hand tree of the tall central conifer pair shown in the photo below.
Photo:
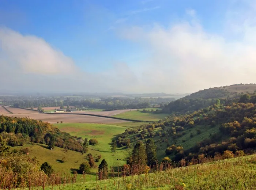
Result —
[{"label": "broader, olive-brown left-hand tree of the tall central conifer pair", "polygon": [[131,164],[147,164],[146,148],[142,141],[138,141],[132,151]]}]

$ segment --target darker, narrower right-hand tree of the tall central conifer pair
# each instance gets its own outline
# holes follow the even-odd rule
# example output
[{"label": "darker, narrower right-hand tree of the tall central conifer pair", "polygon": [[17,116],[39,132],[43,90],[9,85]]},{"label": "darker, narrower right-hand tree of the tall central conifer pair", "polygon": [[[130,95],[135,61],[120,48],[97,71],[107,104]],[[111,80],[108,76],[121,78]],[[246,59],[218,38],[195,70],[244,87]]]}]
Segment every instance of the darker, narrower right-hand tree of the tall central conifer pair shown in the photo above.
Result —
[{"label": "darker, narrower right-hand tree of the tall central conifer pair", "polygon": [[157,146],[152,138],[149,138],[146,143],[147,165],[154,166],[157,164]]}]

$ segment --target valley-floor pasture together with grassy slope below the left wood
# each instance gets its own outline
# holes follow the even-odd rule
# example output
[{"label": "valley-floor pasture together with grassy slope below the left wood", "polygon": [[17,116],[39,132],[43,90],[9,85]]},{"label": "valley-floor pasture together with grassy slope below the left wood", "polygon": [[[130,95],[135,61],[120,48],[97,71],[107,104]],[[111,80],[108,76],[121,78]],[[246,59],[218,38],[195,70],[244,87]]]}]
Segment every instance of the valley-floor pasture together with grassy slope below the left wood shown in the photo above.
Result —
[{"label": "valley-floor pasture together with grassy slope below the left wood", "polygon": [[[106,159],[108,166],[121,166],[126,163],[126,158],[129,155],[130,149],[117,148],[116,153],[110,151],[110,142],[117,134],[123,133],[126,127],[115,126],[115,125],[104,125],[104,124],[94,124],[94,123],[60,123],[56,124],[61,131],[70,133],[73,136],[82,138],[96,138],[99,141],[98,145],[89,145],[89,151],[86,153],[91,153],[93,156],[102,155],[100,161],[95,164],[99,165],[102,159]],[[86,160],[86,154],[68,150],[64,152],[63,148],[55,147],[53,151],[47,149],[47,145],[43,144],[27,144],[22,147],[11,147],[11,149],[23,149],[29,148],[29,155],[31,157],[37,157],[39,163],[42,164],[47,161],[53,166],[56,172],[71,172],[71,168],[79,168],[79,165]],[[61,160],[65,156],[66,161],[64,163],[59,163],[57,160]],[[117,160],[118,159],[118,160]],[[121,159],[121,160],[119,160]],[[95,180],[96,168],[91,169],[92,179]],[[90,175],[87,176],[90,178]]]}]

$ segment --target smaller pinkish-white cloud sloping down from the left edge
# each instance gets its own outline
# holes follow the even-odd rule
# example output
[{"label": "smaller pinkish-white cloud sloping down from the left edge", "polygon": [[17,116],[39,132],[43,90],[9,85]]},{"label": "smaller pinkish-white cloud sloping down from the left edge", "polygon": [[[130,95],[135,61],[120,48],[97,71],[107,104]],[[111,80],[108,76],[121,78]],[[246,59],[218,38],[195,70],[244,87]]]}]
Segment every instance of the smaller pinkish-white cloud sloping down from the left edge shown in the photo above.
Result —
[{"label": "smaller pinkish-white cloud sloping down from the left edge", "polygon": [[24,73],[56,75],[76,72],[72,59],[42,38],[0,28],[0,43],[8,62],[14,63]]}]

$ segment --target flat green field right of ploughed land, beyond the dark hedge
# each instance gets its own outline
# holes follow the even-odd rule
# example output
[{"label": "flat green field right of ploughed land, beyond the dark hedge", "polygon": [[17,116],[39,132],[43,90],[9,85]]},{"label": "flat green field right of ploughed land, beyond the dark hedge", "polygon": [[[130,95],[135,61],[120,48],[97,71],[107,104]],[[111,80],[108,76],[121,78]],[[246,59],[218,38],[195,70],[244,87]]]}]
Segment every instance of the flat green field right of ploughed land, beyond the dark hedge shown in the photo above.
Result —
[{"label": "flat green field right of ploughed land, beyond the dark hedge", "polygon": [[[146,109],[147,110],[147,109]],[[143,113],[141,111],[127,111],[125,113],[114,115],[113,117],[122,118],[122,119],[135,119],[142,121],[159,121],[169,114],[154,114],[154,113]]]}]

